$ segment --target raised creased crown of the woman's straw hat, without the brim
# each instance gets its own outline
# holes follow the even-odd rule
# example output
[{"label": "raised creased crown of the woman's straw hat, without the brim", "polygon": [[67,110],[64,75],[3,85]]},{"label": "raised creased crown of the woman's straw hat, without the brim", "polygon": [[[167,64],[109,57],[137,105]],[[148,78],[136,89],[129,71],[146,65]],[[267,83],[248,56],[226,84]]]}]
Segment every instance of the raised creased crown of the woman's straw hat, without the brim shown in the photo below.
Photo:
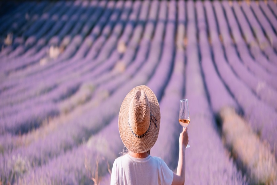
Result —
[{"label": "raised creased crown of the woman's straw hat, without the brim", "polygon": [[150,126],[150,104],[143,90],[136,91],[129,106],[128,121],[136,135],[143,135]]}]

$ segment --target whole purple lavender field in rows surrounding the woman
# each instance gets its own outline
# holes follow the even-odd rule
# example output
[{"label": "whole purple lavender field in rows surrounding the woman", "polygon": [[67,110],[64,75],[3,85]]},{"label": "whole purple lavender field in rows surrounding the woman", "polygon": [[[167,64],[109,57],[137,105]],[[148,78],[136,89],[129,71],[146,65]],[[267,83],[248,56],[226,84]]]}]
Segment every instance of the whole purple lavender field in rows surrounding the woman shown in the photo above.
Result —
[{"label": "whole purple lavender field in rows surrounding the woman", "polygon": [[277,184],[276,1],[2,1],[0,22],[0,185],[110,184],[138,85],[173,171],[189,99],[185,184]]}]

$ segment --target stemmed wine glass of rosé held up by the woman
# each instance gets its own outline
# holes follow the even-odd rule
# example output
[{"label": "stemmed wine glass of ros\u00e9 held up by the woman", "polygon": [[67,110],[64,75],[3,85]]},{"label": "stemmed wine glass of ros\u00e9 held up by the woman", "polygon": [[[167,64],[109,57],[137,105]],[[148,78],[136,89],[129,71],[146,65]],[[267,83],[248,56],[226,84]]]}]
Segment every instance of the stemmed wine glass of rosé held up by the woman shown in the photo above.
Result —
[{"label": "stemmed wine glass of ros\u00e9 held up by the woman", "polygon": [[[180,111],[179,111],[179,123],[184,128],[186,128],[190,122],[191,122],[191,118],[190,118],[190,111],[188,108],[188,100],[181,99],[180,100]],[[189,147],[190,147],[190,145],[187,145],[186,148],[189,148]]]}]

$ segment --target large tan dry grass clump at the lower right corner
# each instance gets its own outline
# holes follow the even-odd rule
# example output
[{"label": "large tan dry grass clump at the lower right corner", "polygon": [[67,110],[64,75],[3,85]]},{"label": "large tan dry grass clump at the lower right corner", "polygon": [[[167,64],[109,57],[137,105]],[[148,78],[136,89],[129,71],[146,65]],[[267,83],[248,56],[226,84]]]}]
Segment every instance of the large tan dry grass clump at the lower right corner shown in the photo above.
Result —
[{"label": "large tan dry grass clump at the lower right corner", "polygon": [[220,118],[223,138],[239,168],[247,173],[251,184],[275,184],[277,164],[269,145],[259,139],[234,109],[222,109]]}]

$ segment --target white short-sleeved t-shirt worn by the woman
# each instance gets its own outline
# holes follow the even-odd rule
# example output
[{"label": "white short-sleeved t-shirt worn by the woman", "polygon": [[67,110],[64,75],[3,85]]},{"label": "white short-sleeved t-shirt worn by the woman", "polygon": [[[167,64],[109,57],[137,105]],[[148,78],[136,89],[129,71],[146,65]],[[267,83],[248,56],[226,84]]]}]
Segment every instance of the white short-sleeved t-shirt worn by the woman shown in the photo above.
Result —
[{"label": "white short-sleeved t-shirt worn by the woman", "polygon": [[123,155],[115,159],[111,185],[171,185],[173,172],[163,159],[148,155],[139,159]]}]

